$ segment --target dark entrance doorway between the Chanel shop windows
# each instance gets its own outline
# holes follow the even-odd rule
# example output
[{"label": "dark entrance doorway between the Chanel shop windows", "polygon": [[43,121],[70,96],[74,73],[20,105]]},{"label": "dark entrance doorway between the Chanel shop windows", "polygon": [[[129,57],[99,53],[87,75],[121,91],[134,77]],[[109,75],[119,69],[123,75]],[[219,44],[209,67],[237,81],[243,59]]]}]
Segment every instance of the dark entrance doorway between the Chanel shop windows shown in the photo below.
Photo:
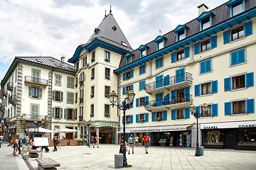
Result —
[{"label": "dark entrance doorway between the Chanel shop windows", "polygon": [[235,129],[227,129],[224,131],[224,148],[235,149],[237,131]]}]

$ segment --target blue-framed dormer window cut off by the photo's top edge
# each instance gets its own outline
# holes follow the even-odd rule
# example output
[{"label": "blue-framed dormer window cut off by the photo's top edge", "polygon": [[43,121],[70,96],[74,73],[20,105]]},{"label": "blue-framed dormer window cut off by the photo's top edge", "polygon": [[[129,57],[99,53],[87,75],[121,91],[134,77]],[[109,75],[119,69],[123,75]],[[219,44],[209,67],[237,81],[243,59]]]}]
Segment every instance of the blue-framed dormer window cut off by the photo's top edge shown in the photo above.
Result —
[{"label": "blue-framed dormer window cut off by the photo's top edge", "polygon": [[227,6],[230,7],[230,17],[233,17],[245,11],[245,0],[230,0]]}]

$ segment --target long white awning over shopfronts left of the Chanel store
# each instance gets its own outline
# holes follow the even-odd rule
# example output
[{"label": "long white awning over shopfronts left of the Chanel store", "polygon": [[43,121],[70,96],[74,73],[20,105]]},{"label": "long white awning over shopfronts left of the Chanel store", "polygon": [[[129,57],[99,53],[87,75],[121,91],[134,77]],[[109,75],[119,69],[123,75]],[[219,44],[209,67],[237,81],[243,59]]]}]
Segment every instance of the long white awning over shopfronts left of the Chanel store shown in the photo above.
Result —
[{"label": "long white awning over shopfronts left of the Chanel store", "polygon": [[[141,127],[141,128],[125,128],[125,133],[131,132],[173,132],[173,131],[183,131],[191,125],[172,125],[172,126],[154,126],[154,127]],[[117,133],[122,133],[121,129]]]}]

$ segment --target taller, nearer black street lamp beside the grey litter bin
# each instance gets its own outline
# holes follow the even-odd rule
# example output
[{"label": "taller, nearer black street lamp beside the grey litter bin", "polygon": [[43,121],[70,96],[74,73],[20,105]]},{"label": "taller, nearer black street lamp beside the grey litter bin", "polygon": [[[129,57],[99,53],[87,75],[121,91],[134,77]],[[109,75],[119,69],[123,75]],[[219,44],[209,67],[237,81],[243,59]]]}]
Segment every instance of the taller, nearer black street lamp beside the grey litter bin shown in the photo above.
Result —
[{"label": "taller, nearer black street lamp beside the grey litter bin", "polygon": [[[120,110],[122,110],[124,112],[124,132],[123,132],[123,136],[124,136],[124,141],[123,141],[123,154],[124,154],[124,158],[123,158],[123,166],[127,166],[127,157],[126,157],[126,147],[125,147],[125,111],[127,111],[127,109],[129,109],[134,101],[134,91],[131,89],[130,91],[128,91],[127,93],[127,97],[124,98],[124,101],[122,102],[122,105],[119,105],[117,103],[117,94],[112,91],[112,93],[109,95],[110,96],[110,103],[112,103],[112,107],[114,108],[114,106],[117,106],[117,108],[119,108]],[[117,104],[115,104],[117,103]]]}]

